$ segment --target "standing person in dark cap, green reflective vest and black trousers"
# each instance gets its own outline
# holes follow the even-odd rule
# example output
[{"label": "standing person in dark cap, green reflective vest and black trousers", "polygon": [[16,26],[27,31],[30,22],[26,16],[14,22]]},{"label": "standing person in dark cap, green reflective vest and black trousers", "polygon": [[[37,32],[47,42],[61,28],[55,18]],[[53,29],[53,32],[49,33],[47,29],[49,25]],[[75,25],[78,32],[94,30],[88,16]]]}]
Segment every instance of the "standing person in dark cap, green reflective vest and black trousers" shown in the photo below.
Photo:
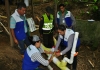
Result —
[{"label": "standing person in dark cap, green reflective vest and black trousers", "polygon": [[47,48],[52,48],[54,46],[53,41],[53,31],[54,31],[54,18],[51,7],[45,8],[46,13],[42,15],[40,25],[39,25],[39,33],[43,37],[43,44]]}]

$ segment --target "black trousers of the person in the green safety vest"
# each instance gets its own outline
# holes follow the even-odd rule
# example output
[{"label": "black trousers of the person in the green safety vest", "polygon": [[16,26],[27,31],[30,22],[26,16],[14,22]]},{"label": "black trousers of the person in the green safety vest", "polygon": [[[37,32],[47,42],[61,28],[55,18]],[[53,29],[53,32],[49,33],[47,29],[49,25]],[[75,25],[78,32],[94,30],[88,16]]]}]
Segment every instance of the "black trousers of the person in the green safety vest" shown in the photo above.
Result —
[{"label": "black trousers of the person in the green safety vest", "polygon": [[43,34],[43,44],[47,48],[52,48],[54,46],[53,32],[49,34]]}]

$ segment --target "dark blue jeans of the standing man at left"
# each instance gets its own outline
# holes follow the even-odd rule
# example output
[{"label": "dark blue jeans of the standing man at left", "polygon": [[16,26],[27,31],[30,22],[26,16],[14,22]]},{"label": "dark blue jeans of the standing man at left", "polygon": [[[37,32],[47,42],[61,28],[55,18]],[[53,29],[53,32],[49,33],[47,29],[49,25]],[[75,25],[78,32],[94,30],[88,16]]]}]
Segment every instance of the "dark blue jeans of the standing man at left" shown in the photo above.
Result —
[{"label": "dark blue jeans of the standing man at left", "polygon": [[18,41],[18,43],[19,43],[19,47],[20,47],[20,53],[22,55],[24,55],[24,52],[26,50],[25,45],[28,47],[31,44],[28,37],[26,37],[25,40]]}]

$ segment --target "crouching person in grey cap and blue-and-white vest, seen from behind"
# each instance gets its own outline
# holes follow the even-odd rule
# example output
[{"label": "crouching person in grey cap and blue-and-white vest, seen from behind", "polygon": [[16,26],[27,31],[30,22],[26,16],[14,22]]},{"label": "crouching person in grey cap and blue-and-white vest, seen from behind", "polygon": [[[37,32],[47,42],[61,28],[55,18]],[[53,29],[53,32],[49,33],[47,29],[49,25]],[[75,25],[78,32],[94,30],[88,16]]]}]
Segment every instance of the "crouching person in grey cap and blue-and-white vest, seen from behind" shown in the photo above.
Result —
[{"label": "crouching person in grey cap and blue-and-white vest, seen from behind", "polygon": [[[43,52],[40,38],[37,35],[33,35],[32,44],[27,47],[24,54],[22,70],[43,70],[38,67],[40,64],[48,66],[53,57],[45,60],[41,55]],[[50,52],[45,53],[50,54]]]}]

